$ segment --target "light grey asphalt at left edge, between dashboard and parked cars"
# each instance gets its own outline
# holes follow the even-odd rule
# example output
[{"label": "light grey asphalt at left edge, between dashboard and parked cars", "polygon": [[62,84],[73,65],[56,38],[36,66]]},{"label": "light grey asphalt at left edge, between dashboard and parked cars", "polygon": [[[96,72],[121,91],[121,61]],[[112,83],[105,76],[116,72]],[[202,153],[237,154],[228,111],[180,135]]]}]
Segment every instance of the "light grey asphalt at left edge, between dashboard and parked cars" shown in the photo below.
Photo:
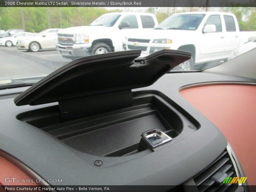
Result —
[{"label": "light grey asphalt at left edge, between dashboard and parked cars", "polygon": [[45,76],[70,61],[56,50],[27,52],[0,46],[0,79]]}]

